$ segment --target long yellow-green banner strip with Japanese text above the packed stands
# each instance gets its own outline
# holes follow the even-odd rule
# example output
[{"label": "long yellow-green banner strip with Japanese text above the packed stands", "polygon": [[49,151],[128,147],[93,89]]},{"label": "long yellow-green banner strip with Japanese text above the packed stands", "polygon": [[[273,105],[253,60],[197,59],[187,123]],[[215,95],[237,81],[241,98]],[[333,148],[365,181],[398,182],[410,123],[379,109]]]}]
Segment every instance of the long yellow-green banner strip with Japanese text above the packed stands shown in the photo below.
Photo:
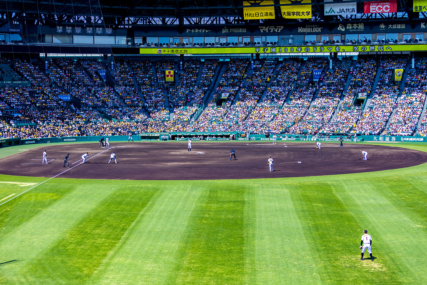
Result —
[{"label": "long yellow-green banner strip with Japanese text above the packed stands", "polygon": [[140,54],[231,54],[231,53],[349,53],[375,51],[425,51],[427,44],[372,44],[335,46],[257,47],[143,47]]}]

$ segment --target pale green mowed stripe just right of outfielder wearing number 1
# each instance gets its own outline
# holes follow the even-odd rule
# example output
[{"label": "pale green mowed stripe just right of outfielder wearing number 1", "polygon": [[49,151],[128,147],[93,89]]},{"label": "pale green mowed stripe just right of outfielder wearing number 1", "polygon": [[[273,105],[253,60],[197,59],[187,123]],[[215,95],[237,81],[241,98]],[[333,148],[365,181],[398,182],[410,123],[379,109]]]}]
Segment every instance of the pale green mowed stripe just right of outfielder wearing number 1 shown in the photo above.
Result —
[{"label": "pale green mowed stripe just right of outfielder wearing number 1", "polygon": [[[390,178],[387,182],[376,182],[369,179],[370,185],[363,185],[358,191],[350,192],[354,199],[352,205],[359,205],[352,207],[355,212],[359,212],[357,218],[360,224],[369,227],[373,255],[378,257],[375,259],[377,270],[389,273],[387,277],[395,277],[388,283],[379,278],[378,284],[421,284],[427,276],[427,235],[422,227],[418,227],[408,217],[405,202],[399,202],[393,197],[393,188],[405,192],[405,186],[399,180]],[[365,212],[360,209],[365,209]],[[417,220],[423,219],[416,212],[410,215]]]}]

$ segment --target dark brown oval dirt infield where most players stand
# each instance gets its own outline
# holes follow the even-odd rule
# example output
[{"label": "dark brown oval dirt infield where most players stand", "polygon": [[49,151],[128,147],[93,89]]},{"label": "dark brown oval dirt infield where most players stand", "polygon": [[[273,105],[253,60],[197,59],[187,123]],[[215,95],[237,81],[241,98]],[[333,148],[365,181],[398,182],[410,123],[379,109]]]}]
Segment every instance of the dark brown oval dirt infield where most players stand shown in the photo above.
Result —
[{"label": "dark brown oval dirt infield where most players stand", "polygon": [[[237,160],[230,159],[230,150]],[[360,149],[368,152],[364,161]],[[43,150],[49,163],[41,164]],[[114,160],[108,164],[114,151]],[[85,164],[81,156],[92,153]],[[64,157],[70,153],[69,165]],[[269,172],[267,159],[274,159]],[[233,158],[234,159],[234,158]],[[38,147],[0,159],[0,173],[7,175],[85,179],[198,180],[302,177],[344,173],[361,173],[420,165],[427,153],[401,147],[366,144],[323,144],[317,150],[314,142],[209,142],[193,141],[192,152],[187,141],[111,143],[111,148],[94,144],[61,144]]]}]

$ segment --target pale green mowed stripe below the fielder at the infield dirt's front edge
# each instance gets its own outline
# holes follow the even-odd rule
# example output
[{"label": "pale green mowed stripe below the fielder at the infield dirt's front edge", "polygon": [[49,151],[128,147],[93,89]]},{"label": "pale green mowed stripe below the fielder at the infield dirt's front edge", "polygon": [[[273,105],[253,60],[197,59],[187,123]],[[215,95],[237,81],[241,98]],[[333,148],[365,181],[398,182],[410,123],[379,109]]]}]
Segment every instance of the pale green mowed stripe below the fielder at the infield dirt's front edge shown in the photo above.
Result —
[{"label": "pale green mowed stripe below the fielder at the infield dirt's front edge", "polygon": [[245,284],[321,284],[286,184],[254,192],[256,279]]}]

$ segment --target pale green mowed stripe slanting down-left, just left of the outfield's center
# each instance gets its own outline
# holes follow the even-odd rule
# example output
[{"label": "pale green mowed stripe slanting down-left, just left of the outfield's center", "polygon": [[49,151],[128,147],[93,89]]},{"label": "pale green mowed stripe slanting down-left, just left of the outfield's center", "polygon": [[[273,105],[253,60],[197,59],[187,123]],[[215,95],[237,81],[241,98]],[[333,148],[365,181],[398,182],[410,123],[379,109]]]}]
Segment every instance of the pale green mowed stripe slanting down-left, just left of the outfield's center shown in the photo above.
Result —
[{"label": "pale green mowed stripe slanting down-left, just left of the outfield's center", "polygon": [[182,182],[162,185],[87,285],[166,284],[202,190],[190,185],[183,191]]}]

